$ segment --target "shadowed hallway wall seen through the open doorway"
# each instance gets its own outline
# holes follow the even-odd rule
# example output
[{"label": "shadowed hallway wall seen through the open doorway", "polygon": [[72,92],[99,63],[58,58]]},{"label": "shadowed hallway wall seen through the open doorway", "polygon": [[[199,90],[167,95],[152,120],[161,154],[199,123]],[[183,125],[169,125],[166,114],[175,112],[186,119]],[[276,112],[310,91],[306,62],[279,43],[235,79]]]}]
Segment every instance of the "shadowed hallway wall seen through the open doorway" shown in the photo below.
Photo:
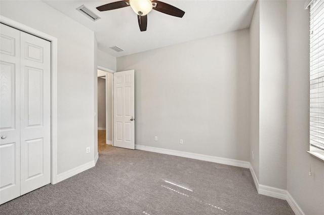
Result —
[{"label": "shadowed hallway wall seen through the open doorway", "polygon": [[98,127],[106,128],[106,79],[98,77]]}]

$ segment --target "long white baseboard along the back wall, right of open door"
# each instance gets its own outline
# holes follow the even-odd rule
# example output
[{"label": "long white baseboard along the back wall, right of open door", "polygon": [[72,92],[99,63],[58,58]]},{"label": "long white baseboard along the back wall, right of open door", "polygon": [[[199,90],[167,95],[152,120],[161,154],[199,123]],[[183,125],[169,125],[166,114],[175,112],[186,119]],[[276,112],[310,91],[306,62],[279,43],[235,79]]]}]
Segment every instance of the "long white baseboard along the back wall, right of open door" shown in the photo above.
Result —
[{"label": "long white baseboard along the back wall, right of open door", "polygon": [[149,151],[149,152],[157,152],[161,154],[175,155],[179,157],[187,157],[187,158],[192,158],[197,160],[205,160],[214,163],[222,163],[222,164],[244,167],[244,168],[250,167],[250,162],[223,158],[223,157],[215,157],[210,155],[195,154],[191,152],[176,151],[171,149],[163,149],[163,148],[156,148],[156,147],[143,146],[143,145],[135,145],[135,149]]}]

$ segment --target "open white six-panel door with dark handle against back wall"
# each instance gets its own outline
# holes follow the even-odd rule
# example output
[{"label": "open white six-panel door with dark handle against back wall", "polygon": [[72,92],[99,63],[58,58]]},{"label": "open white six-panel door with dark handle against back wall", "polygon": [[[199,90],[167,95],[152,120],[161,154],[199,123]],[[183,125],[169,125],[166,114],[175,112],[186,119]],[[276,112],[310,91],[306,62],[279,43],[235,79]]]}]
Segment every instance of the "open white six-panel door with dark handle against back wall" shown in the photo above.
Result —
[{"label": "open white six-panel door with dark handle against back wall", "polygon": [[114,146],[135,149],[134,70],[113,76]]}]

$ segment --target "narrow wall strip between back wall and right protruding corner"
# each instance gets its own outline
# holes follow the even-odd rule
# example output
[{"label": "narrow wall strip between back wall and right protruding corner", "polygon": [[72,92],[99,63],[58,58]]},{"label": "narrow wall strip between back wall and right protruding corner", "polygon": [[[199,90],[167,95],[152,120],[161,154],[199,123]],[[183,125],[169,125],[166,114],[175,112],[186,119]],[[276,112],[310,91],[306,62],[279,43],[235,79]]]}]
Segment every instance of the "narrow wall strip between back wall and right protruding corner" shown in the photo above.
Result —
[{"label": "narrow wall strip between back wall and right protruding corner", "polygon": [[[250,162],[259,180],[259,81],[260,81],[260,3],[257,2],[250,25],[251,50],[251,140]],[[252,155],[254,152],[254,158]]]}]

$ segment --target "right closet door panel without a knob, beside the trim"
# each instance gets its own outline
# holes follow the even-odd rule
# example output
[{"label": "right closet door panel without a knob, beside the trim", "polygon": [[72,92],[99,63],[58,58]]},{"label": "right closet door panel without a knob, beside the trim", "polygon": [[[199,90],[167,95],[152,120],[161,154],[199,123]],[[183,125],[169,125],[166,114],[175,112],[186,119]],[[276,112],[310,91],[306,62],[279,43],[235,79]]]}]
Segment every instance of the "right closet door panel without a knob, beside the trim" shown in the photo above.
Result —
[{"label": "right closet door panel without a knob, beside the trim", "polygon": [[51,43],[20,32],[21,195],[51,182]]}]

